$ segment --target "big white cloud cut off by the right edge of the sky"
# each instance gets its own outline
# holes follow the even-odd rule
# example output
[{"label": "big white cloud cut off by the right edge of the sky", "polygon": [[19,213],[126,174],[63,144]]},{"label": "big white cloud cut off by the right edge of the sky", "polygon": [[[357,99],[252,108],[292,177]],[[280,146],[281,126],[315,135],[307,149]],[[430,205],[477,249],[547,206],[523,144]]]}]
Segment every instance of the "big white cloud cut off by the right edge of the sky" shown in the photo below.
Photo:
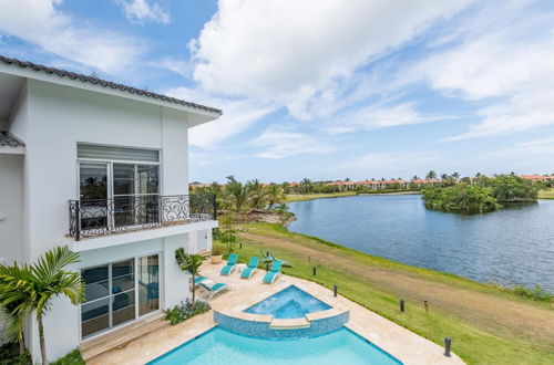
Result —
[{"label": "big white cloud cut off by the right edge of the sky", "polygon": [[527,1],[485,8],[478,20],[468,20],[460,45],[416,69],[431,87],[481,103],[482,122],[450,140],[554,125],[554,13],[523,4]]}]

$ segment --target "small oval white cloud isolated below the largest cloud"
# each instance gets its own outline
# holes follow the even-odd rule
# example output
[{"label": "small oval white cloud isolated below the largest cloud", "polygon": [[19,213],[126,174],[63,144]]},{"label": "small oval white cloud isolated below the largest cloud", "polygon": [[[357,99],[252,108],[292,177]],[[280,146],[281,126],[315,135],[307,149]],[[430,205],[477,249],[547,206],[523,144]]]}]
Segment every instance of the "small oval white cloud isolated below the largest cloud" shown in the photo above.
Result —
[{"label": "small oval white cloud isolated below the largest cloud", "polygon": [[250,142],[263,147],[257,156],[263,158],[286,158],[302,154],[322,154],[335,148],[314,136],[288,131],[266,129],[259,137]]}]

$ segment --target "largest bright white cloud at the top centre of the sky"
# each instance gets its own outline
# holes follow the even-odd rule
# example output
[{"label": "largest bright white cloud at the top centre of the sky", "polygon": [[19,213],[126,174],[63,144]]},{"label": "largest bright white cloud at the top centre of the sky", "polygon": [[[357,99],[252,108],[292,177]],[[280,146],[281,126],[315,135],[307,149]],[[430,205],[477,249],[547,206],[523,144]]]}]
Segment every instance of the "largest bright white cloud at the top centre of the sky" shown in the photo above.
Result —
[{"label": "largest bright white cloud at the top centre of the sky", "polygon": [[334,90],[353,81],[357,69],[469,2],[220,0],[191,42],[194,79],[208,91],[277,102],[310,118],[307,104],[334,102]]}]

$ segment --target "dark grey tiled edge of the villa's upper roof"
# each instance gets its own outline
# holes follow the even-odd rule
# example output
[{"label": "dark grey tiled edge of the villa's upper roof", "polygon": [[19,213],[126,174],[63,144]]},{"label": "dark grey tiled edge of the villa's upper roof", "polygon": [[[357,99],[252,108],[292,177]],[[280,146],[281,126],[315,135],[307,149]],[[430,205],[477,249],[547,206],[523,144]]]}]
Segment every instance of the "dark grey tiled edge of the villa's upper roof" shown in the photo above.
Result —
[{"label": "dark grey tiled edge of the villa's upper roof", "polygon": [[171,97],[171,96],[166,96],[166,95],[162,95],[162,94],[156,94],[156,93],[153,93],[153,92],[148,92],[146,90],[136,88],[136,87],[132,87],[132,86],[126,86],[126,85],[123,85],[123,84],[117,84],[117,83],[114,83],[114,82],[111,82],[111,81],[105,81],[105,80],[98,79],[98,77],[94,77],[94,76],[88,76],[88,75],[83,75],[83,74],[80,74],[80,73],[74,73],[74,72],[65,71],[65,70],[49,67],[49,66],[45,66],[45,65],[42,65],[42,64],[32,63],[32,62],[29,62],[29,61],[21,61],[21,60],[18,60],[18,59],[10,59],[10,58],[6,58],[3,55],[0,55],[0,62],[3,62],[3,63],[9,64],[9,65],[13,64],[13,65],[20,66],[21,69],[31,69],[33,71],[43,72],[43,73],[47,73],[47,74],[57,74],[58,76],[61,76],[61,77],[68,77],[68,79],[71,79],[71,80],[79,80],[79,81],[82,81],[82,82],[85,82],[85,83],[90,83],[90,84],[94,84],[94,85],[100,85],[100,86],[110,87],[110,88],[117,88],[117,90],[121,90],[121,91],[124,91],[124,92],[129,92],[131,94],[144,95],[144,96],[152,97],[152,98],[157,98],[157,100],[161,100],[161,101],[164,101],[164,102],[170,102],[170,103],[181,104],[181,105],[185,105],[185,106],[191,106],[191,107],[195,107],[197,109],[203,109],[203,111],[207,111],[207,112],[212,112],[212,113],[217,113],[217,114],[222,114],[223,113],[222,109],[217,109],[215,107],[211,107],[211,106],[205,106],[205,105],[201,105],[201,104],[196,104],[196,103],[186,102],[186,101],[183,101],[183,100],[179,100],[179,98],[175,98],[175,97]]}]

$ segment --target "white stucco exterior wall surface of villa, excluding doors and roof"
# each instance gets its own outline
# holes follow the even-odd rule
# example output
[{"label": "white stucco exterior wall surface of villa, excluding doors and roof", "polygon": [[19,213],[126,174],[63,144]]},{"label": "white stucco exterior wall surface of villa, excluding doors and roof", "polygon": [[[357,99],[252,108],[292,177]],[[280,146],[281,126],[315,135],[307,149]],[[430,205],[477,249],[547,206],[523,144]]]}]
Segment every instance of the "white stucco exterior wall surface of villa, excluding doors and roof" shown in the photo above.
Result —
[{"label": "white stucco exterior wall surface of villa, excluding doors and roof", "polygon": [[[30,262],[47,250],[72,241],[68,237],[68,200],[79,199],[78,143],[160,149],[160,194],[188,194],[188,125],[184,112],[37,80],[28,80],[22,93],[24,114],[10,127],[25,142],[21,174],[11,168],[13,173],[3,177],[6,163],[0,159],[1,194],[7,194],[3,180],[11,179],[10,184],[18,185],[22,195],[21,201],[11,202],[20,209],[12,210],[13,215],[23,217],[21,237],[13,233],[10,238],[23,244],[20,253],[10,253],[13,259],[20,254],[20,260]],[[175,305],[188,298],[189,292],[187,277],[176,265],[174,251],[178,247],[196,250],[199,232],[163,237],[162,229],[153,231],[160,231],[160,237],[80,252],[81,262],[73,269],[158,253],[161,307]],[[73,247],[79,243],[74,242]],[[2,250],[4,246],[2,242]],[[80,344],[80,309],[69,300],[57,299],[44,324],[50,361]],[[34,319],[29,321],[27,332],[28,347],[34,361],[39,361]]]}]

